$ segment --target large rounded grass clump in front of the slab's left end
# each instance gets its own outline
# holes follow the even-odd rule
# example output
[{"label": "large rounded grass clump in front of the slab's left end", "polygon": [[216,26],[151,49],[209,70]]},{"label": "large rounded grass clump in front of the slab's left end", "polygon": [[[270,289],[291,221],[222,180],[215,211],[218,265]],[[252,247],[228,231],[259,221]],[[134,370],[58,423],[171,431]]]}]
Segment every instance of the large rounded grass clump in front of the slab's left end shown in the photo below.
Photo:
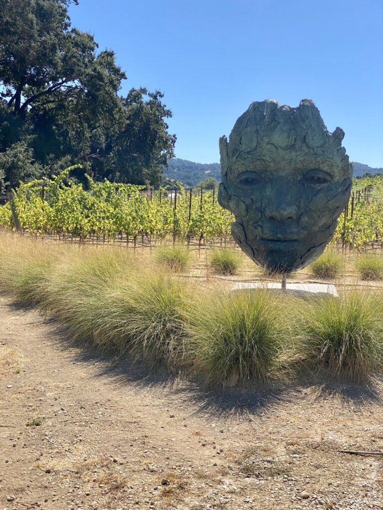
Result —
[{"label": "large rounded grass clump in front of the slab's left end", "polygon": [[197,310],[188,325],[190,353],[206,384],[265,382],[286,339],[278,298],[265,290],[235,292],[205,297]]}]

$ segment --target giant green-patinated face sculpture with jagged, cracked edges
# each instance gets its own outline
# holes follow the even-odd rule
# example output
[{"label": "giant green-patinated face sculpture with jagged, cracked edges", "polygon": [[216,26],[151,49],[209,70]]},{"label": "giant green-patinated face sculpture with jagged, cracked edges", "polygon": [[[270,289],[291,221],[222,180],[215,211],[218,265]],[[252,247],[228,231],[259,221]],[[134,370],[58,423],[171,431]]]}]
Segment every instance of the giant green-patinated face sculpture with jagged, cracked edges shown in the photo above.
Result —
[{"label": "giant green-patinated face sculpture with jagged, cracked edges", "polygon": [[254,262],[289,273],[313,262],[348,203],[352,165],[337,127],[329,133],[310,99],[298,108],[255,102],[220,138],[218,200]]}]

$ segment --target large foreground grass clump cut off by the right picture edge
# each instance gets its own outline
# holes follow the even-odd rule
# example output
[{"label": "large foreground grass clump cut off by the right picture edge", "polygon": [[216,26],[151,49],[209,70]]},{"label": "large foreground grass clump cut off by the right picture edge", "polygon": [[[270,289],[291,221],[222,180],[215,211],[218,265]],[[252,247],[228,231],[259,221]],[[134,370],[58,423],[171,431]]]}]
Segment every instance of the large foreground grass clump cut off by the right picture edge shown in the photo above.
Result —
[{"label": "large foreground grass clump cut off by the right picture edge", "polygon": [[310,369],[362,381],[383,368],[380,296],[353,291],[302,302],[296,349]]}]

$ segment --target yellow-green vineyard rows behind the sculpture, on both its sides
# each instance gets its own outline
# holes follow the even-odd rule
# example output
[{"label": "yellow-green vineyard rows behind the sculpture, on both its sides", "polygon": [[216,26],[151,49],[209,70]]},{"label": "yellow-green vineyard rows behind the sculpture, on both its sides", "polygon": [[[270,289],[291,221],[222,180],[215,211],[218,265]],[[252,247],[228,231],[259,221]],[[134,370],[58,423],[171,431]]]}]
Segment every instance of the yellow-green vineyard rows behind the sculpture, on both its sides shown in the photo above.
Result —
[{"label": "yellow-green vineyard rows behind the sculpture, on both its sides", "polygon": [[[148,239],[174,241],[227,240],[233,216],[223,209],[216,192],[186,190],[143,191],[130,184],[94,182],[88,190],[71,182],[67,168],[50,180],[21,184],[12,203],[0,206],[0,226],[36,235],[78,236],[80,239],[117,237],[134,243]],[[12,214],[12,208],[13,214]],[[383,184],[355,187],[339,218],[333,241],[363,248],[383,245]]]}]

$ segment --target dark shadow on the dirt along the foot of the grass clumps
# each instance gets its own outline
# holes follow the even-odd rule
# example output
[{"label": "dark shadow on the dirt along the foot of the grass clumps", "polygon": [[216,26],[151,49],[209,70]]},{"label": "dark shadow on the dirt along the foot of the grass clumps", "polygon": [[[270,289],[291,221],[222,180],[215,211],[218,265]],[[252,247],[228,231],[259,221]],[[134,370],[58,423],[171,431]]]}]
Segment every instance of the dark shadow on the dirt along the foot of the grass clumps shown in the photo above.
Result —
[{"label": "dark shadow on the dirt along the foot of the grass clumps", "polygon": [[[36,311],[32,307],[19,304],[10,306],[19,312]],[[370,402],[383,403],[383,385],[379,377],[363,384],[352,384],[341,378],[330,378],[325,370],[317,373],[290,373],[283,380],[270,378],[268,384],[262,387],[249,384],[244,388],[207,389],[196,376],[186,378],[169,374],[164,367],[148,367],[142,363],[134,363],[122,359],[116,352],[97,351],[89,343],[74,344],[67,331],[60,327],[57,321],[49,318],[45,319],[45,323],[49,324],[55,333],[50,338],[55,346],[65,351],[75,363],[92,365],[97,372],[95,377],[112,379],[114,384],[121,388],[134,386],[153,394],[169,393],[172,396],[183,396],[185,401],[191,400],[197,405],[198,413],[251,420],[253,415],[267,413],[281,400],[293,401],[297,395],[307,393],[313,400],[336,399],[344,406],[363,407]]]}]

